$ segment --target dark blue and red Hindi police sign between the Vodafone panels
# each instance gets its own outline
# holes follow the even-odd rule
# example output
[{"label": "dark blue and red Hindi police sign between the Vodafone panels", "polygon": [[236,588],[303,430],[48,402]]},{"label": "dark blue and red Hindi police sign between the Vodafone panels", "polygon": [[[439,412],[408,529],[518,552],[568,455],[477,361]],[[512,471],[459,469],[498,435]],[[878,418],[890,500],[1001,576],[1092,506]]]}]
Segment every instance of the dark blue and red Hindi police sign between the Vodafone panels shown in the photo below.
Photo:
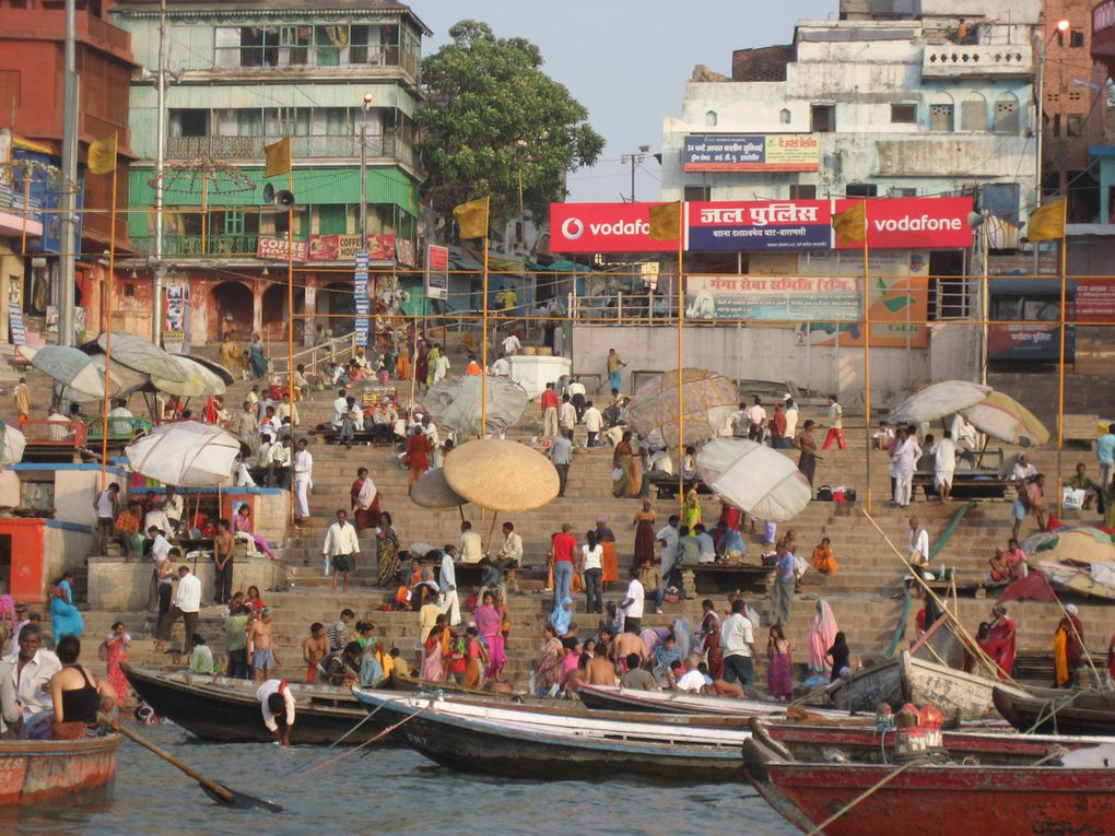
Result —
[{"label": "dark blue and red Hindi police sign between the Vodafone panels", "polygon": [[830,250],[832,201],[690,203],[687,250]]}]

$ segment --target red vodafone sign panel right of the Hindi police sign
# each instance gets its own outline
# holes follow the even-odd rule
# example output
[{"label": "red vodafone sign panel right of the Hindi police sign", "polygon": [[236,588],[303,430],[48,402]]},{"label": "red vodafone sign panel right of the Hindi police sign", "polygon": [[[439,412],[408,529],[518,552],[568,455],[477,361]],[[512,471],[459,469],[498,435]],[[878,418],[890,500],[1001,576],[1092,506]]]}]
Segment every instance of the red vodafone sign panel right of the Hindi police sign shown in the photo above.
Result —
[{"label": "red vodafone sign panel right of the Hindi police sign", "polygon": [[[835,201],[835,212],[854,198]],[[972,245],[971,197],[881,197],[867,201],[867,245],[874,250],[951,250]],[[838,250],[862,247],[861,242]]]}]

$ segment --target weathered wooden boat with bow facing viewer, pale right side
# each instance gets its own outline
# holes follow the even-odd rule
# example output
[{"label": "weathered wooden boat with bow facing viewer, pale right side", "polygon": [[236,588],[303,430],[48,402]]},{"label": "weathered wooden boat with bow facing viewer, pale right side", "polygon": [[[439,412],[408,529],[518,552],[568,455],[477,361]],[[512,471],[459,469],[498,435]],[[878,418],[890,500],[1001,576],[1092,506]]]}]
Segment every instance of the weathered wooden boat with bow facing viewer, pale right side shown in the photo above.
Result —
[{"label": "weathered wooden boat with bow facing viewer, pale right side", "polygon": [[874,713],[884,702],[895,710],[906,702],[915,706],[931,702],[946,720],[957,721],[992,711],[991,692],[997,687],[1006,688],[998,680],[946,668],[902,651],[894,659],[834,682],[830,694],[837,708],[863,713]]}]

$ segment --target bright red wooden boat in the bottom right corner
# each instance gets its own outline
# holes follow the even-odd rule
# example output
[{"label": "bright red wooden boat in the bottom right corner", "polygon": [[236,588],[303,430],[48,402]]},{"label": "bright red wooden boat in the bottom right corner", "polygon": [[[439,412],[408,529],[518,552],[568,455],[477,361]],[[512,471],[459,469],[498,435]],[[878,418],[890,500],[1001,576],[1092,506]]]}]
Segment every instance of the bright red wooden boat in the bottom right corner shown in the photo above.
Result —
[{"label": "bright red wooden boat in the bottom right corner", "polygon": [[[744,770],[787,822],[827,836],[1107,834],[1115,770],[1069,766],[803,764],[762,731],[743,747]],[[885,779],[893,776],[890,781]],[[860,799],[853,799],[874,791]]]}]

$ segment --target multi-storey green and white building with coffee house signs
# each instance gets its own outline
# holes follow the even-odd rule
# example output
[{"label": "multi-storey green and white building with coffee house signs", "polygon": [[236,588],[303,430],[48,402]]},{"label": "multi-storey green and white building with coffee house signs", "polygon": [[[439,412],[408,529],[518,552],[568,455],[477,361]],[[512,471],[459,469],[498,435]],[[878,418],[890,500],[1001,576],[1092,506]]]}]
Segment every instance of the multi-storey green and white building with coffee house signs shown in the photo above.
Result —
[{"label": "multi-storey green and white building with coffee house signs", "polygon": [[[158,0],[116,0],[145,68],[130,88],[129,234],[120,303],[151,305],[155,243]],[[416,263],[423,179],[415,115],[429,30],[394,0],[167,0],[164,264],[187,289],[194,342],[230,327],[279,340],[287,328],[351,329],[361,135],[377,288]],[[291,137],[294,211],[263,203],[264,146]],[[288,188],[285,175],[270,181]],[[274,242],[293,222],[295,300]],[[342,237],[348,236],[348,237]],[[356,236],[353,239],[353,236]],[[262,243],[261,243],[262,242]],[[283,249],[285,244],[283,244]],[[270,257],[260,257],[270,256]]]}]

